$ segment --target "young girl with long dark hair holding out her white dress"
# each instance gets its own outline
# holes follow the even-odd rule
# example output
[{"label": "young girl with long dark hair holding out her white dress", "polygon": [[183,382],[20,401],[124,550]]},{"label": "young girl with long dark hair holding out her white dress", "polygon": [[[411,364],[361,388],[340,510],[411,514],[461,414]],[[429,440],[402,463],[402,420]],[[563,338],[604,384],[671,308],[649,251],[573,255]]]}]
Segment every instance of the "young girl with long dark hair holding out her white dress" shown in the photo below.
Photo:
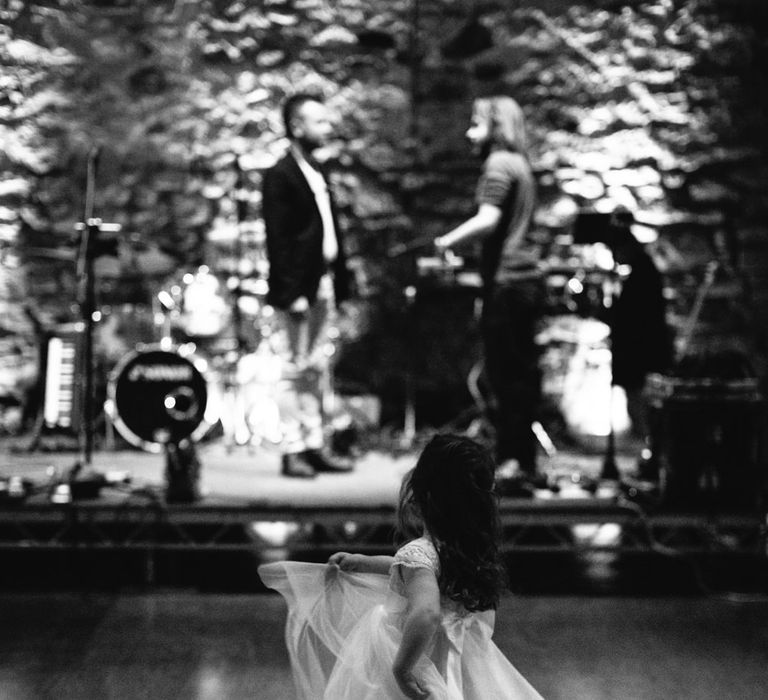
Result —
[{"label": "young girl with long dark hair holding out her white dress", "polygon": [[473,440],[436,436],[400,493],[400,529],[420,536],[394,557],[259,568],[288,603],[300,698],[541,698],[491,641],[504,587],[494,466]]}]

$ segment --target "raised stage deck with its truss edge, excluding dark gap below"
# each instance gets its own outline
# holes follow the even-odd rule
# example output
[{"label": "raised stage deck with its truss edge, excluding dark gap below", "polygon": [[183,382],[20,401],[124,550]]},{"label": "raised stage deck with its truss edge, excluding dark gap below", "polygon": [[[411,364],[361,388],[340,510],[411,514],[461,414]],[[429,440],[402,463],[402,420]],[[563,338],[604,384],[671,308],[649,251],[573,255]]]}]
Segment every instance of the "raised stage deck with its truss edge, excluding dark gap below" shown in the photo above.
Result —
[{"label": "raised stage deck with its truss edge, excluding dark gap below", "polygon": [[[138,553],[146,583],[157,580],[156,557],[169,552],[307,560],[339,549],[391,552],[400,482],[417,455],[418,448],[369,449],[351,472],[298,479],[280,474],[275,450],[212,441],[198,446],[201,497],[167,503],[164,455],[97,451],[91,468],[110,485],[68,501],[53,494],[68,481],[76,453],[6,449],[0,477],[21,479],[31,492],[0,499],[0,550]],[[616,462],[621,480],[601,480],[602,455],[561,451],[541,460],[548,487],[499,482],[502,549],[740,555],[763,566],[764,514],[665,508],[657,496],[627,487],[632,456],[619,453]],[[82,485],[82,474],[72,483]]]}]

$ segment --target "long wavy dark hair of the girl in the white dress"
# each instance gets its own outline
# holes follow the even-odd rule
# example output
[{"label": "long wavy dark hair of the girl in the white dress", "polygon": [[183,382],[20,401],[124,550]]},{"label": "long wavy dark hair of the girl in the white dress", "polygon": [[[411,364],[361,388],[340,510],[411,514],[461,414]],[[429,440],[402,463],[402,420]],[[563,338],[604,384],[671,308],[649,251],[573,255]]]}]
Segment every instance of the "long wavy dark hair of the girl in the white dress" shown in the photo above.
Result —
[{"label": "long wavy dark hair of the girl in the white dress", "polygon": [[436,435],[400,490],[401,532],[416,534],[415,520],[423,523],[440,557],[441,594],[467,610],[495,608],[506,585],[494,472],[482,445],[459,435]]}]

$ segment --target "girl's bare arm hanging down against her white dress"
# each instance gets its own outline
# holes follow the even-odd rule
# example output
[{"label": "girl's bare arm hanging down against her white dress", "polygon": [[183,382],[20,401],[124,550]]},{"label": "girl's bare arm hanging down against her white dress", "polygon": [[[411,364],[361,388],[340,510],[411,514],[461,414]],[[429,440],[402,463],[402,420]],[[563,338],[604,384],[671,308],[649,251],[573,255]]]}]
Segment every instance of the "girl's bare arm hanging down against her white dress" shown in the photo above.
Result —
[{"label": "girl's bare arm hanging down against her white dress", "polygon": [[408,608],[403,626],[403,640],[395,656],[392,672],[400,690],[409,698],[427,698],[429,691],[414,675],[416,662],[440,624],[440,590],[429,569],[403,569]]}]

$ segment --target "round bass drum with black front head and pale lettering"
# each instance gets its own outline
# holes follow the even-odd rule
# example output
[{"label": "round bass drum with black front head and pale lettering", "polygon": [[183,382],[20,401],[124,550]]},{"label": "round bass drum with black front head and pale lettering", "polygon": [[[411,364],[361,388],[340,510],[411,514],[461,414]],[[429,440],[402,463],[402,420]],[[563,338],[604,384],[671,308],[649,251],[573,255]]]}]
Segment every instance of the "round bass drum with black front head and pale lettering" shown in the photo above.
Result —
[{"label": "round bass drum with black front head and pale lettering", "polygon": [[106,412],[128,442],[148,452],[199,440],[211,428],[206,363],[156,347],[127,355],[110,375]]}]

